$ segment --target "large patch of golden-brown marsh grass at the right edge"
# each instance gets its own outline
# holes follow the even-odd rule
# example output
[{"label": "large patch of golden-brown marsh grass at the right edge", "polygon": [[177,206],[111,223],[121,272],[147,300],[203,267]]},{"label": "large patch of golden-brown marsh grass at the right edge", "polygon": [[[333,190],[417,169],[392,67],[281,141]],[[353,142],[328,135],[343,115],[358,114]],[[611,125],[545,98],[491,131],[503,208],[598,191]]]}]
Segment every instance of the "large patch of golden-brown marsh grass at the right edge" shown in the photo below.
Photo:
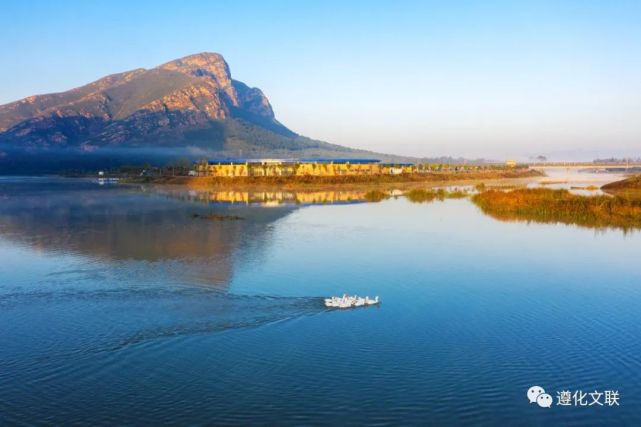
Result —
[{"label": "large patch of golden-brown marsh grass at the right edge", "polygon": [[591,228],[641,228],[641,200],[579,196],[545,188],[488,190],[472,197],[481,210],[500,220],[575,224]]}]

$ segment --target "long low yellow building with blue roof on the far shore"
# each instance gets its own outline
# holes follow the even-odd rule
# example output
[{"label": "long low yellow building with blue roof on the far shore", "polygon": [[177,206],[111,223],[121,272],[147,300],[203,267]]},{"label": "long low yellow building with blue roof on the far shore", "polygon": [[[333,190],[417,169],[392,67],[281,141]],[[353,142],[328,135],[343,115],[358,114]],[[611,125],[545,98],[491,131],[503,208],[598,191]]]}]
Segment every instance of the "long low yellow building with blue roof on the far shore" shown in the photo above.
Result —
[{"label": "long low yellow building with blue roof on the far shore", "polygon": [[375,159],[225,159],[194,165],[198,176],[354,176],[400,175],[414,172],[411,163],[380,163]]}]

